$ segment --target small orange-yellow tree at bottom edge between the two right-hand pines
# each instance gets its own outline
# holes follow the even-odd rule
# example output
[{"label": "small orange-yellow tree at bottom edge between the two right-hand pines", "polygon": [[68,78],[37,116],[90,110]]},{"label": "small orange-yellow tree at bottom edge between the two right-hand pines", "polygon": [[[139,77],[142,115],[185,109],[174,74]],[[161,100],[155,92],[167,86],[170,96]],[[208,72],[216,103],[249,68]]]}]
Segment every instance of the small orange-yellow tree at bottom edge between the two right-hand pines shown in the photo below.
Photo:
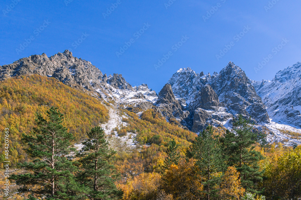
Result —
[{"label": "small orange-yellow tree at bottom edge between the two right-hand pines", "polygon": [[245,189],[241,186],[239,179],[239,172],[235,167],[228,167],[224,176],[222,176],[221,183],[216,186],[220,199],[237,199],[244,195]]}]

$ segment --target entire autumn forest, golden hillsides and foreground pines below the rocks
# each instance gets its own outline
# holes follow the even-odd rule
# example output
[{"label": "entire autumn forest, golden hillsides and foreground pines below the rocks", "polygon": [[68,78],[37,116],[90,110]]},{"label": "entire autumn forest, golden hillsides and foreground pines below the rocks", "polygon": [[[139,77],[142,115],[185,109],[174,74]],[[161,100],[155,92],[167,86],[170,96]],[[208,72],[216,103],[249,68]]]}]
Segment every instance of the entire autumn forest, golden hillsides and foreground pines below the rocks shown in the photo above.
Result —
[{"label": "entire autumn forest, golden hillsides and foreground pines below the rocks", "polygon": [[[268,131],[237,115],[231,128],[199,134],[156,109],[120,107],[111,143],[101,125],[116,106],[54,78],[28,75],[0,83],[0,186],[5,189],[9,129],[10,199],[300,199],[301,146],[268,143]],[[81,144],[81,149],[75,144]]]}]

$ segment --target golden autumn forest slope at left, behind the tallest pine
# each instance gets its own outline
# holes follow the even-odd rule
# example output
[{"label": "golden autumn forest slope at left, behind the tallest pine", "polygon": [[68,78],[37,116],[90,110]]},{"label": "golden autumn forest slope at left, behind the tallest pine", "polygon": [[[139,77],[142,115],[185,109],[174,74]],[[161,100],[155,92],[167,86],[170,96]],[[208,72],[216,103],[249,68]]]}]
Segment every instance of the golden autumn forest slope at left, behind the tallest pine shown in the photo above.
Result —
[{"label": "golden autumn forest slope at left, behind the tallest pine", "polygon": [[[21,135],[33,131],[36,112],[46,113],[51,106],[65,115],[62,122],[75,136],[74,141],[87,137],[87,132],[108,119],[108,110],[100,100],[70,88],[55,78],[28,75],[0,82],[0,130],[10,129],[10,161],[28,161],[21,146]],[[0,134],[0,168],[4,160],[4,132]]]}]

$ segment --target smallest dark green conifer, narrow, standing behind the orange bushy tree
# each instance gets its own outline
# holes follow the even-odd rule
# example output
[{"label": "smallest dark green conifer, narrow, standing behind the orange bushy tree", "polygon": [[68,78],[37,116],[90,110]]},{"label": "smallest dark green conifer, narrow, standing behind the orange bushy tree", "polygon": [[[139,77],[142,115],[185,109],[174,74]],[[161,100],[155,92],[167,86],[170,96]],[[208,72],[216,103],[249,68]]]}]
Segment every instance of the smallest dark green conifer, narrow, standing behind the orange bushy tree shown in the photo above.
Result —
[{"label": "smallest dark green conifer, narrow, standing behind the orange bushy tree", "polygon": [[171,144],[166,149],[167,158],[164,160],[162,172],[168,169],[172,164],[178,165],[181,156],[180,153],[177,151],[177,148],[178,145],[176,145],[175,140],[172,140]]}]

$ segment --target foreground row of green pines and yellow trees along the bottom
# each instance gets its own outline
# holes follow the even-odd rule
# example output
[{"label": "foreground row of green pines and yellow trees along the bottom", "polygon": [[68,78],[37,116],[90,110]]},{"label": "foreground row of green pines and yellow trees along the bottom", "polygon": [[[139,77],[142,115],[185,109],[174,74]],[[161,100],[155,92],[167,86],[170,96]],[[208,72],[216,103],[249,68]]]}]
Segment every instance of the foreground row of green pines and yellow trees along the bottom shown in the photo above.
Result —
[{"label": "foreground row of green pines and yellow trees along the bottom", "polygon": [[241,115],[233,119],[231,131],[224,135],[207,127],[185,154],[171,140],[165,149],[167,156],[157,168],[144,168],[122,180],[114,167],[120,158],[109,149],[100,127],[88,132],[83,149],[75,153],[69,147],[74,136],[62,125],[63,115],[57,108],[49,109],[47,117],[37,116],[33,134],[22,136],[24,150],[33,162],[20,163],[19,167],[29,173],[12,177],[21,186],[20,194],[27,196],[25,199],[301,197],[301,146],[269,146],[266,135]]}]

